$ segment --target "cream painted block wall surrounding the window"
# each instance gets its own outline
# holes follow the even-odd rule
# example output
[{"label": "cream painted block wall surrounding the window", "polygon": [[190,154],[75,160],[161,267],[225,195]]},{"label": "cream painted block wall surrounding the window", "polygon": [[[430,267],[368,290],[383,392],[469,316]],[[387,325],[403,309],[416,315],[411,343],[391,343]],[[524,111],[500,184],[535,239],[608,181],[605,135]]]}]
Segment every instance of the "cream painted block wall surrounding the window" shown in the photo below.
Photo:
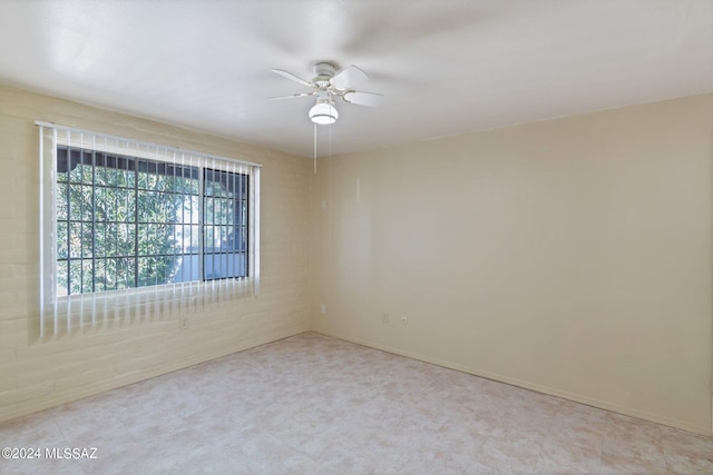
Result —
[{"label": "cream painted block wall surrounding the window", "polygon": [[[38,311],[38,129],[35,120],[263,164],[258,298],[177,319],[81,331],[45,344]],[[312,164],[235,141],[0,87],[0,420],[309,328]]]}]

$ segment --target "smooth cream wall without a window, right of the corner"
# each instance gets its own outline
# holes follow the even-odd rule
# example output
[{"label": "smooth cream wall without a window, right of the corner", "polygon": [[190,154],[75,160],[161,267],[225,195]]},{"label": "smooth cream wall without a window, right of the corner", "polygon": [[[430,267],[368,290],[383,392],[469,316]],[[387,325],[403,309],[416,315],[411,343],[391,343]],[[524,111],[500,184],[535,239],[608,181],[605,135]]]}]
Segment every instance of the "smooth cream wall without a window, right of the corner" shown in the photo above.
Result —
[{"label": "smooth cream wall without a window, right of the corner", "polygon": [[321,160],[312,328],[711,435],[712,106]]}]

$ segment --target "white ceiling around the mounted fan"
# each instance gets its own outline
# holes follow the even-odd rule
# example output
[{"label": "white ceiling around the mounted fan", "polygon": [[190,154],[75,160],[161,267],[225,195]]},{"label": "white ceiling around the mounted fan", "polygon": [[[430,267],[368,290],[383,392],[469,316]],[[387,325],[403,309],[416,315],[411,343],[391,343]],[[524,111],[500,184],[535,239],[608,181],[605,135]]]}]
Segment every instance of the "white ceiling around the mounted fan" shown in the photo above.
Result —
[{"label": "white ceiling around the mounted fan", "polygon": [[713,0],[0,1],[0,82],[303,156],[270,69],[320,60],[384,95],[336,103],[336,155],[712,91]]}]

